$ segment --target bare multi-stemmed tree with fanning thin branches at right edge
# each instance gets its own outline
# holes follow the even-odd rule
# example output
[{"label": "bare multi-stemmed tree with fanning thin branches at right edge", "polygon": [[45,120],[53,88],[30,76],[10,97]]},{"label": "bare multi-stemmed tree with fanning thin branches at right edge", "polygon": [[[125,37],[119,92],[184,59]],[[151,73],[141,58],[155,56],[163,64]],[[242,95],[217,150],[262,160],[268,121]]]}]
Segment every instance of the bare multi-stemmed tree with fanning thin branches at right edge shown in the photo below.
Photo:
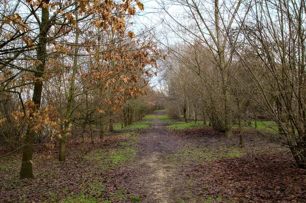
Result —
[{"label": "bare multi-stemmed tree with fanning thin branches at right edge", "polygon": [[306,168],[305,16],[304,1],[254,2],[240,21],[241,41],[232,43],[260,95],[249,90],[250,97],[278,125],[277,135],[264,135],[288,147],[300,168]]}]

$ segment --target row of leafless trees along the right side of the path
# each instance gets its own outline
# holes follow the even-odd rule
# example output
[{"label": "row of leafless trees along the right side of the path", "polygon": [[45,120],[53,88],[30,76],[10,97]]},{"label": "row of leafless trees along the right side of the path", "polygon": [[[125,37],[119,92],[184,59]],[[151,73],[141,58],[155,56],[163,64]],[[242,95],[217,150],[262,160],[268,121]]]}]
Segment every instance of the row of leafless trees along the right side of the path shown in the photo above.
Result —
[{"label": "row of leafless trees along the right side of the path", "polygon": [[273,120],[277,133],[258,132],[288,147],[306,168],[305,2],[159,5],[165,37],[172,37],[161,40],[169,52],[163,66],[171,105],[184,114],[195,109],[227,137],[233,123],[257,120],[258,114]]}]

